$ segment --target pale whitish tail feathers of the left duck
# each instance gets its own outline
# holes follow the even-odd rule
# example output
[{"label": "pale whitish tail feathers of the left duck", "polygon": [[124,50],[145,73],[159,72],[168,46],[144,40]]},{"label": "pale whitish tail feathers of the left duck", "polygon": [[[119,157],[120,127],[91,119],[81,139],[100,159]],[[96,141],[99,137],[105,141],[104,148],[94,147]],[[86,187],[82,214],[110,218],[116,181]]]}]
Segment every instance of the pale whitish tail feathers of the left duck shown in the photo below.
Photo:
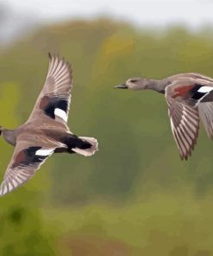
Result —
[{"label": "pale whitish tail feathers of the left duck", "polygon": [[98,147],[97,147],[98,143],[96,138],[78,137],[78,139],[80,139],[83,144],[89,144],[89,146],[87,148],[83,148],[82,146],[80,147],[77,146],[75,148],[72,148],[72,151],[80,155],[83,155],[85,157],[91,157],[98,150]]}]

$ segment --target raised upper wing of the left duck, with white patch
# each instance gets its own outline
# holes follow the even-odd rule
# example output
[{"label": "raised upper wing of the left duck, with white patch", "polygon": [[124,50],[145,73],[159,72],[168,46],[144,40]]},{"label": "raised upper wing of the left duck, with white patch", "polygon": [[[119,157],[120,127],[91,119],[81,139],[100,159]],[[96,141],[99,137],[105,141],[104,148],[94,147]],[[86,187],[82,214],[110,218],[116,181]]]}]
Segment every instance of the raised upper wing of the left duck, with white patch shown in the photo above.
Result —
[{"label": "raised upper wing of the left duck, with white patch", "polygon": [[68,62],[54,54],[49,54],[49,60],[47,79],[28,121],[43,115],[66,124],[71,100],[72,68]]}]

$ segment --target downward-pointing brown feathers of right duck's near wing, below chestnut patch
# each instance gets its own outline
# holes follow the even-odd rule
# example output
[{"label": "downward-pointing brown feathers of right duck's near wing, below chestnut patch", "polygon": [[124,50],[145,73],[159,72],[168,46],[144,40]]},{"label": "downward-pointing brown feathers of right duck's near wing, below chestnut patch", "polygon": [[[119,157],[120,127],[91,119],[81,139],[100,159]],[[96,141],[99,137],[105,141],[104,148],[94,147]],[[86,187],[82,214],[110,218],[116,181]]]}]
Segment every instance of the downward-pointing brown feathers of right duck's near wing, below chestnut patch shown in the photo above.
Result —
[{"label": "downward-pointing brown feathers of right duck's near wing, below chestnut patch", "polygon": [[[170,87],[170,86],[168,86]],[[187,160],[197,142],[199,130],[199,114],[197,107],[189,106],[181,97],[172,98],[171,90],[166,88],[166,101],[172,133],[179,148],[181,159]]]}]

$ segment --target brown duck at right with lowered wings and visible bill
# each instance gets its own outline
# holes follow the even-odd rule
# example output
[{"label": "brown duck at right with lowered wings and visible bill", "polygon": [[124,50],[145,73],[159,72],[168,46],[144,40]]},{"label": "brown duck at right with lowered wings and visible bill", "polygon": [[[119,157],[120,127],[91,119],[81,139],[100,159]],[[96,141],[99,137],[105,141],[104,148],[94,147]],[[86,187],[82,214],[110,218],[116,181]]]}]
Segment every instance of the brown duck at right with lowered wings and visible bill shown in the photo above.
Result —
[{"label": "brown duck at right with lowered wings and visible bill", "polygon": [[175,74],[163,80],[131,78],[115,88],[150,89],[165,94],[172,134],[181,159],[187,160],[197,143],[199,120],[213,138],[213,79],[203,74]]}]

